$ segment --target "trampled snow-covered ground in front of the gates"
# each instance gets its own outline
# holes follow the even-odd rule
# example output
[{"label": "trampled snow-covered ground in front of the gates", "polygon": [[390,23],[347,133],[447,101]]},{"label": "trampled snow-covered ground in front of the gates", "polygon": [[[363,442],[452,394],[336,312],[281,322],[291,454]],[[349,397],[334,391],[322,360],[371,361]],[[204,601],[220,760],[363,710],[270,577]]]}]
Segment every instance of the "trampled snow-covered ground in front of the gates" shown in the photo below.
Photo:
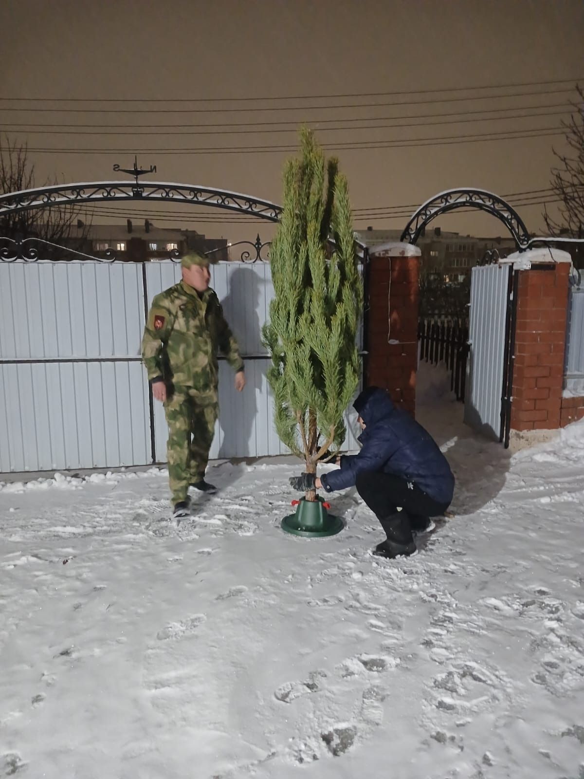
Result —
[{"label": "trampled snow-covered ground in front of the gates", "polygon": [[457,477],[397,561],[354,491],[283,534],[297,464],[0,489],[0,776],[584,777],[584,423],[509,456],[425,368]]}]

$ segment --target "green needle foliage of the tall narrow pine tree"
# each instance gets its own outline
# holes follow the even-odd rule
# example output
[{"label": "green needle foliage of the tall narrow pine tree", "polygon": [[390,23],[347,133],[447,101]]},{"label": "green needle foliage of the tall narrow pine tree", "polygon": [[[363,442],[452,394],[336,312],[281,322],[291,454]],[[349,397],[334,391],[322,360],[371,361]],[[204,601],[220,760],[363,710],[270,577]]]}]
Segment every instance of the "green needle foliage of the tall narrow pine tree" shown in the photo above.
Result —
[{"label": "green needle foliage of the tall narrow pine tree", "polygon": [[[357,389],[363,286],[347,178],[301,129],[301,157],[284,167],[284,203],[270,249],[275,297],[264,344],[272,365],[274,421],[308,473],[345,438],[343,414]],[[315,500],[315,493],[307,494]]]}]

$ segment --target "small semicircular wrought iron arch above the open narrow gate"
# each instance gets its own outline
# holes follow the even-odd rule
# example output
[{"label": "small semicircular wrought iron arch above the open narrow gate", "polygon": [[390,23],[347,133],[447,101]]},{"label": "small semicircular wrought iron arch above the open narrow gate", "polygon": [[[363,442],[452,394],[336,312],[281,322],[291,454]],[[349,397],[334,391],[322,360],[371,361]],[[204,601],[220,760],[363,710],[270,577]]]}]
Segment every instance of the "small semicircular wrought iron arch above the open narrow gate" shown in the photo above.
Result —
[{"label": "small semicircular wrought iron arch above the open narrow gate", "polygon": [[493,192],[484,189],[448,189],[440,192],[413,214],[402,233],[401,240],[415,244],[427,224],[441,213],[448,213],[459,208],[478,208],[481,211],[491,213],[501,220],[515,239],[519,251],[527,249],[529,245],[529,233],[519,214],[505,203],[505,200]]}]

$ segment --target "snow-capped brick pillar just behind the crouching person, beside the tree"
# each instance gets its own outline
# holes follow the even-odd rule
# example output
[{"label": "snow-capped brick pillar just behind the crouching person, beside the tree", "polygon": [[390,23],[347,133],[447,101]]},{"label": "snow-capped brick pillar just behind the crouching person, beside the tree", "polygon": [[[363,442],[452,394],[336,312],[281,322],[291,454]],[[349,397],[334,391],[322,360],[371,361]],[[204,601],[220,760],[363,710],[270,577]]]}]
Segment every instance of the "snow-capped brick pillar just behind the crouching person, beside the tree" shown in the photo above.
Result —
[{"label": "snow-capped brick pillar just behind the crouching person, beside the tree", "polygon": [[368,277],[368,361],[365,382],[389,390],[415,413],[420,249],[392,243],[371,249]]}]

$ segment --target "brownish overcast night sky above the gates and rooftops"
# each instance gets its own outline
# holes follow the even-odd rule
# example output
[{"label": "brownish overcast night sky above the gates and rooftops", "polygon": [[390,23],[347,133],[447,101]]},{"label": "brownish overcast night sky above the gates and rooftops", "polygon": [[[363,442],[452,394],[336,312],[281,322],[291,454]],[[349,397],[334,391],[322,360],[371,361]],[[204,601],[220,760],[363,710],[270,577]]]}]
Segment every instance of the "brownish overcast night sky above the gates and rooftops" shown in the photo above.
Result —
[{"label": "brownish overcast night sky above the gates and rooftops", "polygon": [[[0,5],[0,29],[0,97],[123,101],[0,101],[0,128],[27,141],[31,149],[113,150],[31,151],[37,183],[55,175],[64,182],[119,178],[111,170],[114,163],[131,167],[129,150],[151,149],[139,153],[139,164],[157,165],[157,174],[150,178],[233,189],[280,202],[280,171],[289,152],[161,152],[294,146],[295,128],[302,121],[315,127],[328,146],[431,139],[426,146],[359,146],[334,152],[349,177],[353,206],[361,210],[355,220],[361,229],[368,224],[403,227],[404,214],[412,208],[397,210],[398,216],[392,218],[383,209],[422,203],[454,186],[479,186],[501,195],[546,189],[554,163],[552,144],[562,148],[561,134],[482,143],[437,144],[435,139],[509,131],[522,135],[537,129],[558,132],[561,112],[575,99],[575,93],[566,90],[573,88],[575,79],[584,83],[582,0],[5,0]],[[556,79],[567,80],[543,83]],[[501,87],[526,82],[533,86]],[[477,86],[495,88],[449,91]],[[364,93],[394,94],[364,97]],[[519,97],[502,97],[517,93]],[[311,95],[326,97],[266,100]],[[496,97],[477,99],[485,95]],[[453,97],[473,100],[452,101]],[[136,98],[168,102],[126,102]],[[173,99],[187,101],[171,103]],[[371,103],[378,105],[364,105]],[[343,108],[331,108],[338,105]],[[33,110],[5,110],[24,107]],[[294,110],[273,110],[283,107]],[[50,108],[98,110],[63,113]],[[105,108],[143,112],[105,113]],[[189,112],[173,113],[173,108]],[[534,116],[542,113],[547,115]],[[523,118],[513,118],[518,114]],[[420,115],[424,117],[417,118]],[[331,119],[337,121],[329,125],[350,129],[327,129],[322,122]],[[17,122],[16,127],[7,126]],[[259,122],[264,124],[250,126]],[[92,134],[79,135],[78,128],[69,135],[61,127],[34,128],[56,130],[55,134],[27,134],[24,123],[29,129],[33,124],[89,125],[83,130]],[[225,126],[210,132],[207,128],[202,134],[202,125],[207,124]],[[400,124],[411,126],[399,129]],[[117,132],[106,125],[128,125],[128,135],[104,135]],[[135,134],[145,131],[142,125],[161,125],[153,130],[162,134]],[[172,136],[167,130],[180,129],[173,125],[197,126],[182,128],[193,134]],[[372,129],[373,125],[385,126]],[[217,134],[219,129],[235,132]],[[147,207],[128,203],[110,210],[117,208],[125,218],[126,211],[143,212]],[[150,208],[153,213],[169,210],[160,204]],[[529,230],[541,230],[542,208],[518,205]],[[176,212],[177,207],[170,210]],[[232,224],[220,210],[206,210],[205,217],[188,213],[190,218],[181,224],[209,236],[254,237],[258,227],[269,234],[261,225]],[[93,220],[110,219],[96,211]],[[178,224],[175,219],[153,220],[161,226]],[[475,234],[497,235],[504,230],[478,212],[449,215],[434,224]]]}]

